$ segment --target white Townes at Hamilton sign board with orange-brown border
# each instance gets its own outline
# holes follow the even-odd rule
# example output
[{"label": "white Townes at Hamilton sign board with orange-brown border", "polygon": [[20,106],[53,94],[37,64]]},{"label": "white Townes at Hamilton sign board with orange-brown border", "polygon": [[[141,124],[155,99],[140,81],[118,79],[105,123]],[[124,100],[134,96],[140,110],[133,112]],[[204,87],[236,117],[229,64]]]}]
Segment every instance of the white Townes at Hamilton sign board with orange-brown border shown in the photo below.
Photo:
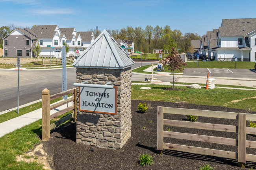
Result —
[{"label": "white Townes at Hamilton sign board with orange-brown border", "polygon": [[117,86],[113,89],[79,87],[79,110],[117,114]]}]

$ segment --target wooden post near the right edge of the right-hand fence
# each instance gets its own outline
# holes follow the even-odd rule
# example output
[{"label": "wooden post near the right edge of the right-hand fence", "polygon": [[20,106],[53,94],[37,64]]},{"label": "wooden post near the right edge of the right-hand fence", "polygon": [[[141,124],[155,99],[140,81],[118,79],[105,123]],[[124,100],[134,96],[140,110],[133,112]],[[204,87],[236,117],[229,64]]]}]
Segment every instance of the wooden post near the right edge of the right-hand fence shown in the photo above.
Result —
[{"label": "wooden post near the right edge of the right-hand fence", "polygon": [[246,114],[238,114],[238,166],[245,168],[246,162]]}]

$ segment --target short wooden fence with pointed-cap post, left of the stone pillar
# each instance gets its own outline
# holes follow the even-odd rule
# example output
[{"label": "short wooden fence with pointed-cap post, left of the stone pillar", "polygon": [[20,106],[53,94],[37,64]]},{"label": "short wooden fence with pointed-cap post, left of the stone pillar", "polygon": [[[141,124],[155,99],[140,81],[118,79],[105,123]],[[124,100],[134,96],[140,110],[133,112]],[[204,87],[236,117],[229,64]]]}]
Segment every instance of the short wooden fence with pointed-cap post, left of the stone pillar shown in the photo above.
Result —
[{"label": "short wooden fence with pointed-cap post, left of the stone pillar", "polygon": [[[72,93],[72,97],[69,97],[68,99],[64,101],[59,101],[58,103],[52,104],[50,106],[50,101],[57,99],[59,97],[62,97],[64,95],[68,95]],[[72,105],[63,109],[59,110],[58,112],[50,115],[50,110],[53,110],[55,108],[58,108],[59,106],[63,106],[64,104],[67,104],[69,102],[72,102]],[[69,112],[70,110],[73,110],[73,113],[63,117],[62,119],[50,124],[50,120],[54,119],[55,117],[58,117],[59,115],[62,115],[64,113]],[[42,141],[48,141],[50,138],[50,130],[53,128],[59,126],[60,124],[68,121],[74,117],[74,121],[76,122],[76,88],[63,91],[61,93],[57,93],[50,96],[50,91],[48,89],[45,89],[42,91]]]}]

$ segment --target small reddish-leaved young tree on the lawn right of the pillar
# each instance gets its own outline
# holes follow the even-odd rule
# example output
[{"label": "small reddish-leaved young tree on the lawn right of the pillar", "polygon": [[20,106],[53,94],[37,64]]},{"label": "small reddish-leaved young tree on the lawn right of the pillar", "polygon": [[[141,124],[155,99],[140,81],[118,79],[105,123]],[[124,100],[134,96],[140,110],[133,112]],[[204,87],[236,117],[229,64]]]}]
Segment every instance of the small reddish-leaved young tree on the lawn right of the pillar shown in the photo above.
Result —
[{"label": "small reddish-leaved young tree on the lawn right of the pillar", "polygon": [[182,71],[182,66],[185,66],[186,63],[183,62],[182,58],[180,57],[180,55],[178,54],[178,51],[172,47],[170,49],[169,55],[163,59],[163,65],[168,65],[168,67],[173,70],[173,89],[174,89],[174,70],[175,69],[179,69],[180,71]]}]

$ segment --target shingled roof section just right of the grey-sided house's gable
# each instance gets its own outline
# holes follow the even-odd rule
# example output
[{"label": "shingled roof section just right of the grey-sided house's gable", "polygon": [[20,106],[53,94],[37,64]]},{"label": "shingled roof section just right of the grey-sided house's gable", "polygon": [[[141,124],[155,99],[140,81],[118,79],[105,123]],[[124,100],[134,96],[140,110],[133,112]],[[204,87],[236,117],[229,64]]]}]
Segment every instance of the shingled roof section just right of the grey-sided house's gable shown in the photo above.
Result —
[{"label": "shingled roof section just right of the grey-sided house's gable", "polygon": [[35,26],[31,29],[27,29],[38,38],[53,38],[56,31],[56,27],[58,25],[45,25],[45,26]]}]

